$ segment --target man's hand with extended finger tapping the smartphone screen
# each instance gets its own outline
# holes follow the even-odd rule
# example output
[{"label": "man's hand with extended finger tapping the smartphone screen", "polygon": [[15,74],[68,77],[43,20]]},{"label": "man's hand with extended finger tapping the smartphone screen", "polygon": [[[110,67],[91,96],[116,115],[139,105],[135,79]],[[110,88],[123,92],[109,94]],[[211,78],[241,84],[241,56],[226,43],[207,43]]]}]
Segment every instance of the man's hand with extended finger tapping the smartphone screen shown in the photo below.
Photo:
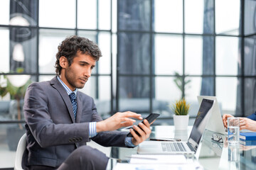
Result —
[{"label": "man's hand with extended finger tapping the smartphone screen", "polygon": [[122,112],[122,113],[117,112],[114,115],[112,115],[110,118],[97,122],[96,132],[117,130],[122,127],[133,125],[133,123],[135,123],[136,120],[132,118],[142,120],[142,115],[134,112],[130,112],[130,111]]}]

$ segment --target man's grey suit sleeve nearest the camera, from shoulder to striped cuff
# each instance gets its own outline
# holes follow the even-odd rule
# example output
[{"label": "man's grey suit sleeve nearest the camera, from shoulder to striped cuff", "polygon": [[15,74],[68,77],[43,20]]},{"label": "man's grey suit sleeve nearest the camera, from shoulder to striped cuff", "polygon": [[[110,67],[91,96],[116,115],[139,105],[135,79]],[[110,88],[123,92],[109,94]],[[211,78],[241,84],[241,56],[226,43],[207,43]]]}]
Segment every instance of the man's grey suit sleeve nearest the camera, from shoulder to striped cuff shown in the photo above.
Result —
[{"label": "man's grey suit sleeve nearest the camera, from shoulder to striped cuff", "polygon": [[[36,142],[41,147],[50,147],[90,141],[89,123],[65,122],[67,118],[63,118],[66,115],[60,113],[58,101],[50,101],[46,90],[38,83],[31,84],[24,98],[23,112],[26,124]],[[53,106],[54,104],[56,106]],[[49,106],[55,107],[55,113],[49,112]],[[56,119],[63,123],[54,123],[53,120]]]}]

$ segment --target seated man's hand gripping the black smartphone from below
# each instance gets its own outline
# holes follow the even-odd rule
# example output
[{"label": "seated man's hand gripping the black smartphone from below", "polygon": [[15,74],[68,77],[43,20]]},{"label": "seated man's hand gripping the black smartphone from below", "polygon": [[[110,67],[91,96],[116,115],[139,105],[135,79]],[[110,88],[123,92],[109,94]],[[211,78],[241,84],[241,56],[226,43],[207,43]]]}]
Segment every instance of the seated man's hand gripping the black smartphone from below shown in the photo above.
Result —
[{"label": "seated man's hand gripping the black smartphone from below", "polygon": [[[144,124],[143,124],[144,123]],[[149,135],[151,133],[149,122],[145,119],[143,120],[143,123],[139,123],[139,127],[137,125],[134,125],[133,128],[137,132],[139,132],[139,135],[134,132],[134,130],[131,128],[130,132],[132,133],[132,143],[134,145],[139,145],[141,142],[149,138]],[[142,129],[141,129],[142,128]]]}]

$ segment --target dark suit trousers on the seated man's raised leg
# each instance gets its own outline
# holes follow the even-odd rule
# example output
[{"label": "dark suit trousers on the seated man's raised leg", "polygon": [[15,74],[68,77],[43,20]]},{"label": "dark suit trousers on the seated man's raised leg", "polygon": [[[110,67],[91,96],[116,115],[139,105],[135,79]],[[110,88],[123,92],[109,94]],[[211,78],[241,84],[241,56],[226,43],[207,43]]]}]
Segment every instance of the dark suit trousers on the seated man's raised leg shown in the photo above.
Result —
[{"label": "dark suit trousers on the seated man's raised leg", "polygon": [[26,166],[26,170],[105,170],[108,157],[97,149],[82,146],[74,152],[58,168],[50,166]]}]

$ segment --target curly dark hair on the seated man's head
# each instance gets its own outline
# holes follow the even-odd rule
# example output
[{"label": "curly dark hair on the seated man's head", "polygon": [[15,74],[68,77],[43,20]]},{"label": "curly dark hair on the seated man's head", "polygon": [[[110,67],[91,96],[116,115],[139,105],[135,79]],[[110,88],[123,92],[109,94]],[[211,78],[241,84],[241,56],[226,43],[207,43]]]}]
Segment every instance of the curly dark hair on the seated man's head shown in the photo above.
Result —
[{"label": "curly dark hair on the seated man's head", "polygon": [[55,72],[57,75],[60,75],[62,69],[62,67],[60,67],[60,57],[66,57],[68,59],[68,65],[70,66],[78,51],[82,52],[82,54],[90,55],[95,61],[98,61],[100,57],[102,57],[100,48],[95,42],[77,35],[70,36],[63,40],[58,46],[55,62]]}]

